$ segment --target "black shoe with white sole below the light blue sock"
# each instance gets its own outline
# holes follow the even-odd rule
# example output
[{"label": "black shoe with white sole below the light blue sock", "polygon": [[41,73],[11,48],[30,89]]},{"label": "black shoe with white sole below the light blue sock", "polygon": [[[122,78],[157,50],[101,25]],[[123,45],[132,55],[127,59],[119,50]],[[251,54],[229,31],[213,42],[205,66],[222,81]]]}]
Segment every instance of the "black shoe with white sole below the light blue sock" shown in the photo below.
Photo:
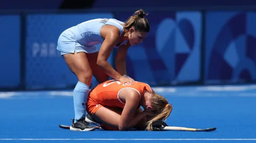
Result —
[{"label": "black shoe with white sole below the light blue sock", "polygon": [[73,123],[70,127],[71,131],[94,131],[96,129],[95,126],[91,126],[88,122],[85,121],[84,118],[79,119],[76,123]]}]

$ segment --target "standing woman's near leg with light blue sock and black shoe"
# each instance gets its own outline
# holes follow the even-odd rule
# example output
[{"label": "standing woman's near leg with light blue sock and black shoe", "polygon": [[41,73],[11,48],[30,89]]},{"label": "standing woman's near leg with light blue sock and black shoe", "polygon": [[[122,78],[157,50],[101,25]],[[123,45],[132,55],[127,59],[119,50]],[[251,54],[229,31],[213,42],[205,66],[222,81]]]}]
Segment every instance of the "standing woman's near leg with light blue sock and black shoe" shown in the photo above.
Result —
[{"label": "standing woman's near leg with light blue sock and black shoe", "polygon": [[77,76],[78,82],[74,89],[75,124],[71,126],[72,131],[92,131],[84,120],[86,116],[86,102],[89,93],[89,86],[92,78],[92,71],[87,60],[86,53],[74,53],[63,55],[68,68]]}]

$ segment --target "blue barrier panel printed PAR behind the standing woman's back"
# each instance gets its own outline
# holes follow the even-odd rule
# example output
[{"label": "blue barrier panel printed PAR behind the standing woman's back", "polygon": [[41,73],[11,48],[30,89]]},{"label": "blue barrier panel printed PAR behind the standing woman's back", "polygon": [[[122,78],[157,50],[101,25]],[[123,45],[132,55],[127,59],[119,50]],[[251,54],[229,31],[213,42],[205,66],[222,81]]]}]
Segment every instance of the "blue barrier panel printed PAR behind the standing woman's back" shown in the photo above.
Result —
[{"label": "blue barrier panel printed PAR behind the standing woman's back", "polygon": [[[60,34],[69,27],[112,14],[28,15],[26,43],[27,89],[73,86],[77,77],[68,69],[56,50]],[[111,57],[110,57],[111,60]],[[111,62],[111,61],[110,61]]]}]

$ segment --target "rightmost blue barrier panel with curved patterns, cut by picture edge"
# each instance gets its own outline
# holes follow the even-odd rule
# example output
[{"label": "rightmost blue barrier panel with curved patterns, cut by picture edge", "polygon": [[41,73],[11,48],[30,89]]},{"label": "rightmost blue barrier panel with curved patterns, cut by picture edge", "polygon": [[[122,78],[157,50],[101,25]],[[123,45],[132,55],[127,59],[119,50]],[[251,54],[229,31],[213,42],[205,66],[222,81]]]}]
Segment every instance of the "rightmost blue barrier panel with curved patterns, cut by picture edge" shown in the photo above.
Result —
[{"label": "rightmost blue barrier panel with curved patterns, cut by picture edge", "polygon": [[207,12],[205,83],[256,80],[256,12]]}]

